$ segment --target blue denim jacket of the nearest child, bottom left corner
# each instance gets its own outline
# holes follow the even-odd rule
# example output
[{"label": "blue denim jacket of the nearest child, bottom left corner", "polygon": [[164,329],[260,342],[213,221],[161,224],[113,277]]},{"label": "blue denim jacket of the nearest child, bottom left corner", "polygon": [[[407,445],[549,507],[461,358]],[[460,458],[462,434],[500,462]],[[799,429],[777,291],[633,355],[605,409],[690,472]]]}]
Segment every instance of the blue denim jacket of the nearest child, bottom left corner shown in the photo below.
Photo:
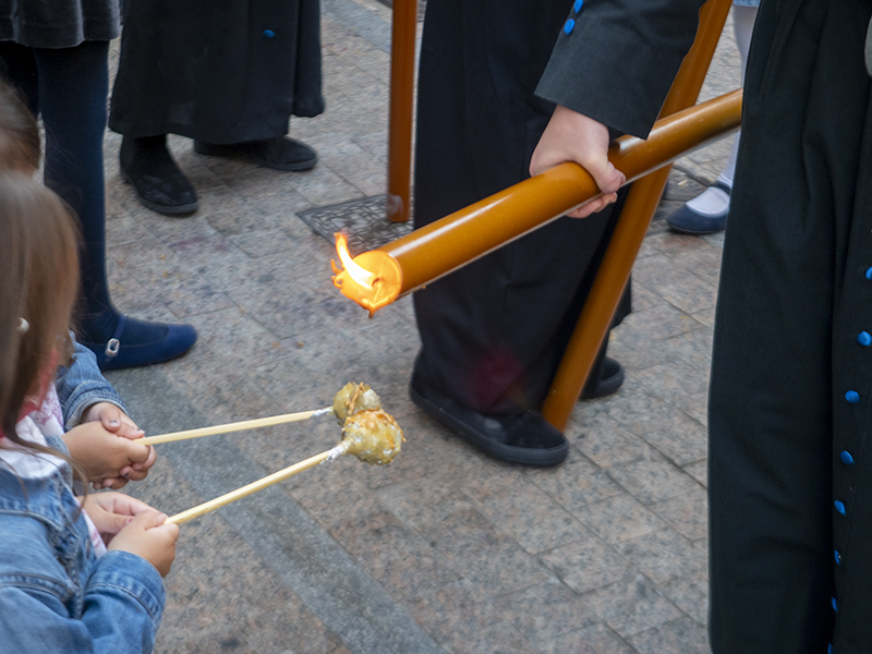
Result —
[{"label": "blue denim jacket of the nearest child, bottom left corner", "polygon": [[65,464],[40,479],[0,464],[0,650],[148,654],[164,609],[160,574],[128,552],[95,556],[70,482]]}]

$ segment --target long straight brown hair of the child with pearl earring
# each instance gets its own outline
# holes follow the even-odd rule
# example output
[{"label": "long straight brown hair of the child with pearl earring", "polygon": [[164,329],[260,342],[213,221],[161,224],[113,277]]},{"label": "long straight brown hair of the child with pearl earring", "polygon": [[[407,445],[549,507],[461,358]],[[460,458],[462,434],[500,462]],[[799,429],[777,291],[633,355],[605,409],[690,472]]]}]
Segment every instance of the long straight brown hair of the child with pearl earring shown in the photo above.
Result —
[{"label": "long straight brown hair of the child with pearl earring", "polygon": [[25,398],[53,382],[53,366],[71,351],[76,228],[55,193],[7,172],[0,173],[0,432],[32,447],[17,438],[15,424]]}]

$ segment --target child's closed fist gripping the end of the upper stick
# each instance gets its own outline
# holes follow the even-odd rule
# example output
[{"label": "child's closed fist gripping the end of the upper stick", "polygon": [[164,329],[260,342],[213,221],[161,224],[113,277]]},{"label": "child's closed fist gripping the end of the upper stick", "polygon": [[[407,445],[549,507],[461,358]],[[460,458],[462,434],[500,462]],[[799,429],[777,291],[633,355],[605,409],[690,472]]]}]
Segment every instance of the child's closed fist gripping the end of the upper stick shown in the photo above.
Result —
[{"label": "child's closed fist gripping the end of the upper stick", "polygon": [[73,427],[63,435],[63,440],[70,448],[70,457],[98,487],[120,488],[128,480],[145,479],[157,457],[154,448],[118,436],[100,422]]}]

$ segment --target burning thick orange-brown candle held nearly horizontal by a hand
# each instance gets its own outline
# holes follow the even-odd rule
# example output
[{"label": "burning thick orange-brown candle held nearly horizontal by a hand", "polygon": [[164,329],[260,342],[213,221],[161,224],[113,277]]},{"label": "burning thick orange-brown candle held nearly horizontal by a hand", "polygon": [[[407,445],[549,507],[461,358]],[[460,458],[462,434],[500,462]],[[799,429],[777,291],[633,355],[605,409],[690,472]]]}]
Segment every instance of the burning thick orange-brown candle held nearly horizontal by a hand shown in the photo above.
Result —
[{"label": "burning thick orange-brown candle held nearly horizontal by a hand", "polygon": [[[741,118],[741,99],[742,92],[735,90],[661,119],[646,141],[634,136],[616,140],[609,148],[609,159],[623,172],[628,183],[640,179],[736,130]],[[581,166],[561,164],[354,257],[354,263],[377,274],[380,282],[375,289],[361,290],[346,271],[337,275],[337,286],[374,312],[560,218],[598,194],[593,178]],[[644,235],[644,226],[640,233]]]}]

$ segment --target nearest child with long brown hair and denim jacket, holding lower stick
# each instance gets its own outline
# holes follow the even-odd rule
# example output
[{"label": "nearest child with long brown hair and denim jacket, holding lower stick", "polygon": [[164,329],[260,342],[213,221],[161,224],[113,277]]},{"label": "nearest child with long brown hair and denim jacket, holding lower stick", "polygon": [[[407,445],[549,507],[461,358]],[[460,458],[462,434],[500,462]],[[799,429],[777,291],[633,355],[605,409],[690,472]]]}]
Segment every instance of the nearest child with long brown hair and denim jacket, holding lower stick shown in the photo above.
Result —
[{"label": "nearest child with long brown hair and denim jacket, holding lower stick", "polygon": [[78,288],[72,221],[40,184],[0,174],[0,643],[152,652],[179,529],[114,493],[80,506],[51,399]]}]

